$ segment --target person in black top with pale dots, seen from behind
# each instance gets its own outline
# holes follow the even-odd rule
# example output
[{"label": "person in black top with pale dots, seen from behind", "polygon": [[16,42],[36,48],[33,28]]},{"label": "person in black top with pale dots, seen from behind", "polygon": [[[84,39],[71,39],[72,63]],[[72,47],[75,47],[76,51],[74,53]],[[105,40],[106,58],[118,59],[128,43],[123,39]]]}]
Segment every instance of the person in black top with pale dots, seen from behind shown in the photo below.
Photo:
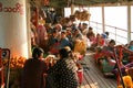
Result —
[{"label": "person in black top with pale dots, seen from behind", "polygon": [[50,86],[55,88],[78,88],[78,68],[70,53],[66,48],[59,51],[60,59],[48,69],[48,76],[52,77],[53,82],[48,79],[47,88],[50,88]]}]

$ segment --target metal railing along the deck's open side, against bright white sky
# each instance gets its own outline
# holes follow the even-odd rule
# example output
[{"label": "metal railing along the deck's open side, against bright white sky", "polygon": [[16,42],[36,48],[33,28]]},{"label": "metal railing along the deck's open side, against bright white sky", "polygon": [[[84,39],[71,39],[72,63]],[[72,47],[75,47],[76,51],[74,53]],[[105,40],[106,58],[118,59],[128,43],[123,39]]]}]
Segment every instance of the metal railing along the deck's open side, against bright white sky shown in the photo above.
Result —
[{"label": "metal railing along the deck's open side, against bright white sky", "polygon": [[[100,22],[90,21],[89,24],[94,29],[96,33],[100,33],[100,32],[103,33],[104,31],[105,32],[108,31],[110,33],[109,37],[115,40],[116,44],[126,44],[129,41],[127,30],[104,24],[104,31],[103,31],[103,28],[102,28],[103,24]],[[133,32],[130,32],[130,33],[133,34]]]}]

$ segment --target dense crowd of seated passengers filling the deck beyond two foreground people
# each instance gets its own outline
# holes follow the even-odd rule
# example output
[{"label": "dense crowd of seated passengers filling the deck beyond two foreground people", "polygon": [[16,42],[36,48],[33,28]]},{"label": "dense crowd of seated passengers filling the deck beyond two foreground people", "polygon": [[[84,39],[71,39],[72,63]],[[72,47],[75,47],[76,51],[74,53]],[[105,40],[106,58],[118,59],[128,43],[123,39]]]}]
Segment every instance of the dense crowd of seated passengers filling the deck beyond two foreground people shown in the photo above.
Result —
[{"label": "dense crowd of seated passengers filling the deck beyond two foreground people", "polygon": [[[43,21],[39,22],[45,21],[44,19],[41,20]],[[119,70],[116,64],[121,66],[122,74],[124,76],[127,75],[127,69],[133,67],[132,41],[126,45],[116,45],[115,41],[110,38],[109,32],[96,33],[88,23],[80,22],[78,24],[76,21],[76,16],[71,15],[70,18],[60,18],[53,23],[47,23],[45,21],[45,23],[39,23],[39,25],[35,26],[31,19],[31,46],[32,50],[34,47],[41,47],[44,51],[48,68],[54,67],[57,59],[60,58],[60,50],[69,47],[72,53],[70,56],[72,58],[74,57],[73,61],[78,67],[76,70],[83,69],[82,63],[78,62],[84,59],[85,54],[91,51],[94,53],[92,56],[93,61],[105,77],[117,77],[116,74],[119,74]],[[51,55],[55,57],[55,59],[49,57]],[[119,63],[115,58],[119,59]]]}]

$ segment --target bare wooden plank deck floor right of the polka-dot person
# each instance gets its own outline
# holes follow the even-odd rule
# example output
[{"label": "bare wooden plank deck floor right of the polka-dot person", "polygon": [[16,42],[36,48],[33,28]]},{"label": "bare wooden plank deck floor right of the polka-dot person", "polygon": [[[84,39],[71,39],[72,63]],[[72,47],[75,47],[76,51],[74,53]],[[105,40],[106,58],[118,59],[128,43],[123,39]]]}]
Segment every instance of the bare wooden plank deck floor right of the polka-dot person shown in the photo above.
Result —
[{"label": "bare wooden plank deck floor right of the polka-dot person", "polygon": [[117,88],[115,78],[104,77],[94,63],[92,53],[88,53],[81,64],[83,66],[83,82],[80,88]]}]

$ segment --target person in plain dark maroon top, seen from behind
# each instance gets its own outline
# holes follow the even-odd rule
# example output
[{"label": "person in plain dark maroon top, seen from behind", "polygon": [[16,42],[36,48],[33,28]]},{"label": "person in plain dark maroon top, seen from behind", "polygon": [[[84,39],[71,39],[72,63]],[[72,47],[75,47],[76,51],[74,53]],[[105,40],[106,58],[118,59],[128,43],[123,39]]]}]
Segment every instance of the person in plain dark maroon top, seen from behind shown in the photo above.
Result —
[{"label": "person in plain dark maroon top, seen from behind", "polygon": [[22,69],[20,88],[45,88],[43,74],[47,73],[47,64],[42,61],[43,50],[34,47],[32,58],[25,61]]}]

